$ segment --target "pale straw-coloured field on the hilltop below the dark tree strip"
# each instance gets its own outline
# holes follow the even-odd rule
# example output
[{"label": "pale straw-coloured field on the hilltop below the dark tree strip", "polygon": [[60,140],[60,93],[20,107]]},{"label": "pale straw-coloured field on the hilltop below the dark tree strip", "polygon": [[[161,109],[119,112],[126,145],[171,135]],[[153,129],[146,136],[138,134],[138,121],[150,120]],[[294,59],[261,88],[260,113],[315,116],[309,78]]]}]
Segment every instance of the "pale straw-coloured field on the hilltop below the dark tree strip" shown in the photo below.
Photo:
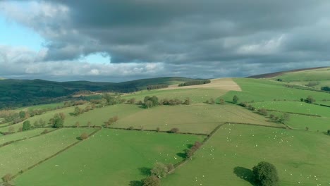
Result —
[{"label": "pale straw-coloured field on the hilltop below the dark tree strip", "polygon": [[240,86],[238,86],[236,82],[234,82],[231,78],[213,79],[211,80],[211,83],[204,85],[192,85],[192,86],[184,86],[184,87],[178,87],[178,85],[171,85],[166,89],[193,89],[193,88],[242,91],[242,89],[240,89]]}]

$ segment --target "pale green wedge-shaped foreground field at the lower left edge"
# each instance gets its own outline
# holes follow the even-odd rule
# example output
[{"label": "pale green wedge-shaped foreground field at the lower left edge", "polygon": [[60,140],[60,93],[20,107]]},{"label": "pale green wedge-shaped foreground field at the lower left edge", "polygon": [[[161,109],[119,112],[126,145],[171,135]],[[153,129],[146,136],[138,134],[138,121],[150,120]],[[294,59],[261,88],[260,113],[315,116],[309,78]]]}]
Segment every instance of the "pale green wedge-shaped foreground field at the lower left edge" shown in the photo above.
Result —
[{"label": "pale green wedge-shaped foreground field at the lower left edge", "polygon": [[0,175],[14,175],[77,142],[76,137],[82,132],[92,131],[94,129],[61,129],[1,147]]}]

